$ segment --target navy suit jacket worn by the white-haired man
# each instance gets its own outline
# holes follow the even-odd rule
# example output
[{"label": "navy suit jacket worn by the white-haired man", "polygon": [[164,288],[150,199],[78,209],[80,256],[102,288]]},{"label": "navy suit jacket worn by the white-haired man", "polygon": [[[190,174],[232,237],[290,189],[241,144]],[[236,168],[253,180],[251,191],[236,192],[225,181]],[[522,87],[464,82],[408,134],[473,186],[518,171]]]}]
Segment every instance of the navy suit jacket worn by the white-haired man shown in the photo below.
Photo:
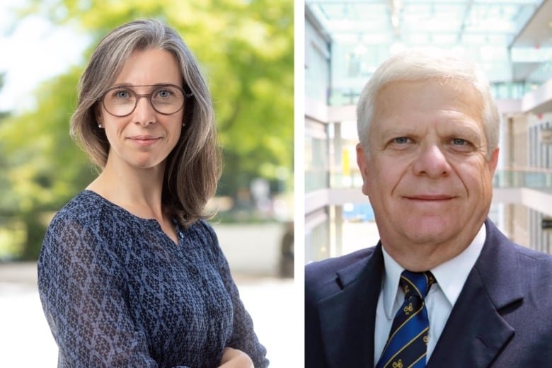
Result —
[{"label": "navy suit jacket worn by the white-haired man", "polygon": [[[485,222],[481,255],[427,367],[552,367],[552,256]],[[373,367],[381,243],[305,270],[305,367]]]}]

